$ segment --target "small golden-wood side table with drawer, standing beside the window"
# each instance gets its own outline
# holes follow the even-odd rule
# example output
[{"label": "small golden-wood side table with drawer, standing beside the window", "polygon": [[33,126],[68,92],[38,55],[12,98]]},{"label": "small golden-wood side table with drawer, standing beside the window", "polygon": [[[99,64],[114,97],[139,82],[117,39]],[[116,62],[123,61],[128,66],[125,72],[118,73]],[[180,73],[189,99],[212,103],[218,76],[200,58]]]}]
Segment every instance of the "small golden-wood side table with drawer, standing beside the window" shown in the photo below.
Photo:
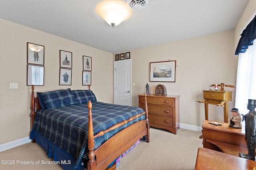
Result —
[{"label": "small golden-wood side table with drawer, standing beside the window", "polygon": [[208,120],[208,104],[224,107],[224,122],[228,123],[228,101],[232,101],[232,91],[203,90],[204,99],[197,101],[204,103],[205,119]]}]

